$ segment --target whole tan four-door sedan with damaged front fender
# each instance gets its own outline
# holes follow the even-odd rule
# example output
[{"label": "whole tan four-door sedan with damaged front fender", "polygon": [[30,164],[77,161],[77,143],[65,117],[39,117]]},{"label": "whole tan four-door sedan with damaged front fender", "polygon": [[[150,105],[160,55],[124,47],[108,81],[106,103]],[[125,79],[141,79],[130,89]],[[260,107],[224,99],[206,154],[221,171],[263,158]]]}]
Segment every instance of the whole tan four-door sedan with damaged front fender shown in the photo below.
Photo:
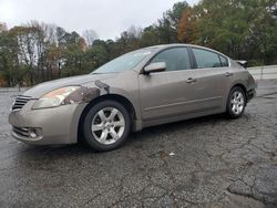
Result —
[{"label": "whole tan four-door sedan with damaged front fender", "polygon": [[124,54],[91,74],[42,83],[19,95],[12,135],[34,145],[84,139],[96,150],[121,146],[130,131],[209,114],[243,115],[253,76],[226,55],[167,44]]}]

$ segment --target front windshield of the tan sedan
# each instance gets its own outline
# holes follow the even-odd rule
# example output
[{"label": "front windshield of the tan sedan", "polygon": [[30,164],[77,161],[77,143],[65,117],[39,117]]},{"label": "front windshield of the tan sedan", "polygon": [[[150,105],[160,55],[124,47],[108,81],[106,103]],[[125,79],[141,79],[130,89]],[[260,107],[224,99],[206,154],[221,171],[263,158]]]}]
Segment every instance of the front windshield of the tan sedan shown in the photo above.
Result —
[{"label": "front windshield of the tan sedan", "polygon": [[131,53],[126,53],[102,65],[92,72],[92,74],[117,73],[133,70],[141,61],[151,54],[151,52],[152,50],[150,49],[141,49]]}]

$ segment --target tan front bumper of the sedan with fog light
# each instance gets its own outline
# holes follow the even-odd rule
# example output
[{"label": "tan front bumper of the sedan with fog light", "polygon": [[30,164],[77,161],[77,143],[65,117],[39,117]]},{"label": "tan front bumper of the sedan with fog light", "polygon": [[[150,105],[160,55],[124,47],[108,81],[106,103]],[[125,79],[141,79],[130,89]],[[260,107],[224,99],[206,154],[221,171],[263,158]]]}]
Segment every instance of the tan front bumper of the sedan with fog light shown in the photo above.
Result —
[{"label": "tan front bumper of the sedan with fog light", "polygon": [[[9,123],[14,138],[33,145],[78,142],[78,125],[85,103],[32,110],[34,102],[29,101],[20,111],[10,113]],[[33,133],[35,136],[32,136]]]}]

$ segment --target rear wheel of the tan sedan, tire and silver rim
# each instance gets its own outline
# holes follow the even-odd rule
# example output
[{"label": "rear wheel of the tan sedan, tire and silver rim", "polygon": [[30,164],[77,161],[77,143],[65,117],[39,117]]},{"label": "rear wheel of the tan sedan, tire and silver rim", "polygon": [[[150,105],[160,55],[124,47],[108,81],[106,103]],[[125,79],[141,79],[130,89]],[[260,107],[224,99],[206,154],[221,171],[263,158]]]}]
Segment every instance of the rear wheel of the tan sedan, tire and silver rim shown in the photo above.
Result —
[{"label": "rear wheel of the tan sedan, tire and silver rim", "polygon": [[227,100],[226,113],[228,117],[232,119],[239,118],[244,114],[246,104],[247,100],[244,90],[239,86],[233,87]]}]

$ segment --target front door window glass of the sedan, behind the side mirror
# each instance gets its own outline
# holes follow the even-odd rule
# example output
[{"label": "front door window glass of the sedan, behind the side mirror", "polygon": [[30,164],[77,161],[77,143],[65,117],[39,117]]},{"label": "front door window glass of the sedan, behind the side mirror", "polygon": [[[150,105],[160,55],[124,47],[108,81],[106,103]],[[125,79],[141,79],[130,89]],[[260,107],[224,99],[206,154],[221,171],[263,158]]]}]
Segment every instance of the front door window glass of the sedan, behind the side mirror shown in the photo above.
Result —
[{"label": "front door window glass of the sedan, behind the side mirror", "polygon": [[186,48],[167,49],[158,53],[151,63],[165,62],[166,71],[189,70],[191,62]]}]

